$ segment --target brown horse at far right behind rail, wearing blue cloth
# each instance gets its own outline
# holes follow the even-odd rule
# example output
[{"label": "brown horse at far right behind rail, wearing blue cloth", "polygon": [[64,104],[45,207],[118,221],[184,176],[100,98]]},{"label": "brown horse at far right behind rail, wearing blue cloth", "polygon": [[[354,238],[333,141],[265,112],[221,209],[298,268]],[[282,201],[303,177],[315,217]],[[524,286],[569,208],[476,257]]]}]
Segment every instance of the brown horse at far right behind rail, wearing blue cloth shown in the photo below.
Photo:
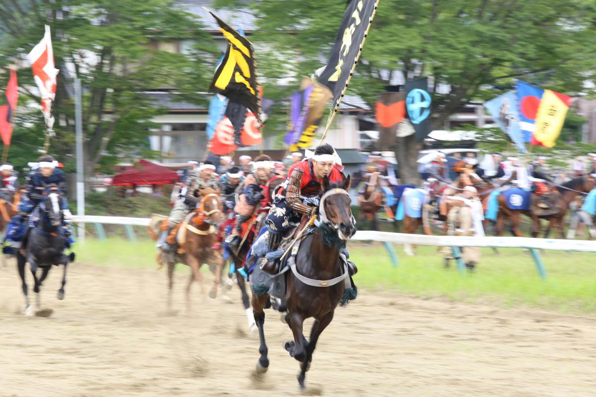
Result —
[{"label": "brown horse at far right behind rail, wearing blue cloth", "polygon": [[520,215],[524,214],[532,219],[532,237],[538,237],[542,230],[541,220],[548,220],[547,230],[544,232],[544,237],[548,237],[552,227],[558,229],[562,239],[565,238],[563,218],[569,210],[569,204],[582,193],[589,193],[590,190],[594,189],[594,178],[591,176],[583,176],[576,179],[572,179],[563,185],[558,185],[558,211],[555,214],[538,216],[530,208],[526,210],[510,210],[505,202],[504,195],[498,196],[499,203],[499,214],[496,220],[496,234],[501,236],[503,233],[505,220],[510,220],[511,223],[511,234],[517,237],[522,237],[523,233],[519,230]]}]

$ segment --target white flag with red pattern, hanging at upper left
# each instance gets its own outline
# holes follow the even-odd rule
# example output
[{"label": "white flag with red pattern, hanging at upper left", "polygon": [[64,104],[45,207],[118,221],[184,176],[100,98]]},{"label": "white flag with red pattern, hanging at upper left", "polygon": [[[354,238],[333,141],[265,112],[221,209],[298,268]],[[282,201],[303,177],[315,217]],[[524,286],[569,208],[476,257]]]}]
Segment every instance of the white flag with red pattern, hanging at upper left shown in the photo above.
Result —
[{"label": "white flag with red pattern, hanging at upper left", "polygon": [[58,69],[54,67],[54,50],[52,49],[52,36],[49,26],[45,26],[45,35],[29,54],[33,78],[41,92],[41,111],[44,113],[45,124],[49,130],[54,126],[52,116],[52,101],[56,96],[56,76]]}]

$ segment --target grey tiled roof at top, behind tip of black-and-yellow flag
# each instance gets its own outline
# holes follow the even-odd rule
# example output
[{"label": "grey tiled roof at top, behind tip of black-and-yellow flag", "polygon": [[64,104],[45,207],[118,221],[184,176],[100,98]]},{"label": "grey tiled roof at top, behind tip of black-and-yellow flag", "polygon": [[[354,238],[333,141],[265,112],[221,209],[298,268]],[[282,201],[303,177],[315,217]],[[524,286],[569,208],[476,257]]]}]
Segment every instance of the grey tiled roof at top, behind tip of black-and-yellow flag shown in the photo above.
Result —
[{"label": "grey tiled roof at top, behind tip of black-and-yellow flag", "polygon": [[197,15],[207,30],[219,30],[219,25],[203,7],[215,12],[219,18],[224,20],[229,26],[234,27],[234,29],[243,29],[244,31],[257,29],[257,18],[248,7],[235,8],[234,10],[229,8],[216,10],[213,8],[212,0],[179,0],[176,4],[182,10]]}]

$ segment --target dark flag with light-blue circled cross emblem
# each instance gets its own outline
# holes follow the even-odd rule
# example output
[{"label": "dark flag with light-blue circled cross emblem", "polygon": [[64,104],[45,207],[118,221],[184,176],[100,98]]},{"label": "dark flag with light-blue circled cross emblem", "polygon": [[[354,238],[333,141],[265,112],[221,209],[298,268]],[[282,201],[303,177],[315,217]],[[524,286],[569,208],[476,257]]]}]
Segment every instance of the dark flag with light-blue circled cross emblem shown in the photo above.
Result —
[{"label": "dark flag with light-blue circled cross emblem", "polygon": [[426,77],[406,82],[406,112],[412,126],[416,142],[423,142],[430,133],[430,99],[429,83]]}]

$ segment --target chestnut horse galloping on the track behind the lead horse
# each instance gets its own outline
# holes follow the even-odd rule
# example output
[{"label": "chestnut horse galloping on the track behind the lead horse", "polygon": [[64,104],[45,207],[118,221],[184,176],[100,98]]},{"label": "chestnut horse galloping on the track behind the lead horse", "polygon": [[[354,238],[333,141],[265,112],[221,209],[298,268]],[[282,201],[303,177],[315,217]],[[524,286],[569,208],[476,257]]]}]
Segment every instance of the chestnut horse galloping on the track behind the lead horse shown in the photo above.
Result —
[{"label": "chestnut horse galloping on the track behind the lead horse", "polygon": [[204,263],[215,267],[215,279],[209,290],[209,297],[216,298],[218,286],[221,282],[224,259],[218,251],[211,247],[215,244],[216,232],[222,222],[222,212],[219,205],[219,196],[216,193],[207,193],[201,197],[201,204],[194,211],[190,219],[181,224],[181,241],[178,252],[162,252],[162,258],[167,263],[167,308],[172,308],[172,287],[174,268],[176,263],[188,265],[191,268],[190,279],[186,288],[187,307],[190,308],[190,287],[193,281],[198,281],[201,294],[205,295],[203,276],[200,272]]}]

